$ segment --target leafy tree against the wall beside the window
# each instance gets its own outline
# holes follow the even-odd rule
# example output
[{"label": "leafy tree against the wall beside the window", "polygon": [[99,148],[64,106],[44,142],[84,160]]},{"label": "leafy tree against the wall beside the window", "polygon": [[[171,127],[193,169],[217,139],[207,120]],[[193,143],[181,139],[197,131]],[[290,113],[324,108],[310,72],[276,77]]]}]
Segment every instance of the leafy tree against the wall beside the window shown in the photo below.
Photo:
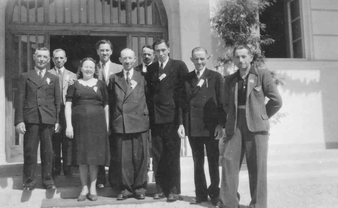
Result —
[{"label": "leafy tree against the wall beside the window", "polygon": [[[233,48],[238,44],[246,44],[252,49],[254,56],[251,65],[257,68],[265,67],[265,55],[261,50],[262,46],[274,43],[269,36],[259,35],[261,29],[265,31],[266,25],[259,21],[261,14],[267,7],[271,6],[276,0],[219,0],[216,2],[215,16],[211,18],[211,28],[213,33],[224,42],[224,57],[218,57],[217,68],[225,67],[226,74],[229,75],[237,71],[233,64]],[[219,71],[219,70],[217,70]],[[283,79],[270,71],[276,85],[283,85]],[[280,122],[280,118],[286,113],[276,113],[270,120],[272,124]]]}]

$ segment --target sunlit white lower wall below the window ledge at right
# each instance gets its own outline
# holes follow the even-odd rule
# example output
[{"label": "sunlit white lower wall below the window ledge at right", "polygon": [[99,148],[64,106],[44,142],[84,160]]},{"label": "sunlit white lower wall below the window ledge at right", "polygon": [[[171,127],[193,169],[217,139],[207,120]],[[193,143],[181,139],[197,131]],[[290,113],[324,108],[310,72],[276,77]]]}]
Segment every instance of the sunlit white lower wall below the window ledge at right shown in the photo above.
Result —
[{"label": "sunlit white lower wall below the window ledge at right", "polygon": [[267,67],[285,78],[279,87],[288,113],[271,127],[271,145],[338,142],[338,62],[268,60]]}]

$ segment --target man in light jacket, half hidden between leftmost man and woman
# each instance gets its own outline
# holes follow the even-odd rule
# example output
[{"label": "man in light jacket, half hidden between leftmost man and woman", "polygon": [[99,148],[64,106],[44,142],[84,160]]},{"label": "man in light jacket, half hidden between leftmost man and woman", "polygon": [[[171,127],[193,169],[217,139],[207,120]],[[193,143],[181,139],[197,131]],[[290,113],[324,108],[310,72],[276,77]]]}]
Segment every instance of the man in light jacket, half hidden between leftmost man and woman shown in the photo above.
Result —
[{"label": "man in light jacket, half hidden between leftmost man and woman", "polygon": [[[68,89],[68,80],[70,78],[76,79],[76,74],[71,71],[68,71],[65,68],[65,63],[67,61],[66,52],[62,49],[55,49],[53,51],[52,61],[54,63],[54,68],[48,70],[49,73],[58,76],[60,93],[61,93],[61,104],[59,112],[59,126],[61,128],[60,133],[55,133],[53,135],[53,151],[54,151],[54,176],[61,174],[61,152],[62,152],[62,170],[64,175],[72,175],[71,166],[67,165],[68,150],[71,151],[72,141],[66,136],[66,119],[65,119],[65,103],[66,103],[66,94]],[[62,151],[61,151],[62,150]]]}]

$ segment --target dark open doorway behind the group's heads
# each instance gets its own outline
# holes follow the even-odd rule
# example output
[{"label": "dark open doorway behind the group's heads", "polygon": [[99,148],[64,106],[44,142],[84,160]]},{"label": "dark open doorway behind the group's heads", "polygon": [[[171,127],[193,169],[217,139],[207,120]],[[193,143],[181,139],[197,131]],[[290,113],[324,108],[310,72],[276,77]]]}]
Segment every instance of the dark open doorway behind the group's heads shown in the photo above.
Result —
[{"label": "dark open doorway behind the group's heads", "polygon": [[[67,56],[65,68],[76,73],[82,58],[92,57],[97,62],[99,61],[95,44],[103,39],[109,40],[113,44],[113,54],[110,60],[121,64],[119,61],[120,52],[127,47],[127,36],[50,35],[50,56],[53,56],[52,53],[55,49],[65,50]],[[54,64],[51,61],[50,68],[53,67]]]}]

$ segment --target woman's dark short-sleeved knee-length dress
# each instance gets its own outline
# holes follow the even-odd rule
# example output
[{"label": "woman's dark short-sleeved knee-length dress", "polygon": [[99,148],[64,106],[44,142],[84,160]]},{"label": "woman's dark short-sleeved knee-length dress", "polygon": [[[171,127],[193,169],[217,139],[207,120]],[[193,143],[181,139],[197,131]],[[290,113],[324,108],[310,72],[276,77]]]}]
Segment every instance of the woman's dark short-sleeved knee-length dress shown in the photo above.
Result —
[{"label": "woman's dark short-sleeved knee-length dress", "polygon": [[89,87],[75,81],[67,90],[66,102],[69,101],[72,102],[74,138],[72,158],[68,161],[72,161],[72,165],[109,166],[110,150],[104,114],[104,106],[108,104],[106,84],[98,80],[96,85]]}]

